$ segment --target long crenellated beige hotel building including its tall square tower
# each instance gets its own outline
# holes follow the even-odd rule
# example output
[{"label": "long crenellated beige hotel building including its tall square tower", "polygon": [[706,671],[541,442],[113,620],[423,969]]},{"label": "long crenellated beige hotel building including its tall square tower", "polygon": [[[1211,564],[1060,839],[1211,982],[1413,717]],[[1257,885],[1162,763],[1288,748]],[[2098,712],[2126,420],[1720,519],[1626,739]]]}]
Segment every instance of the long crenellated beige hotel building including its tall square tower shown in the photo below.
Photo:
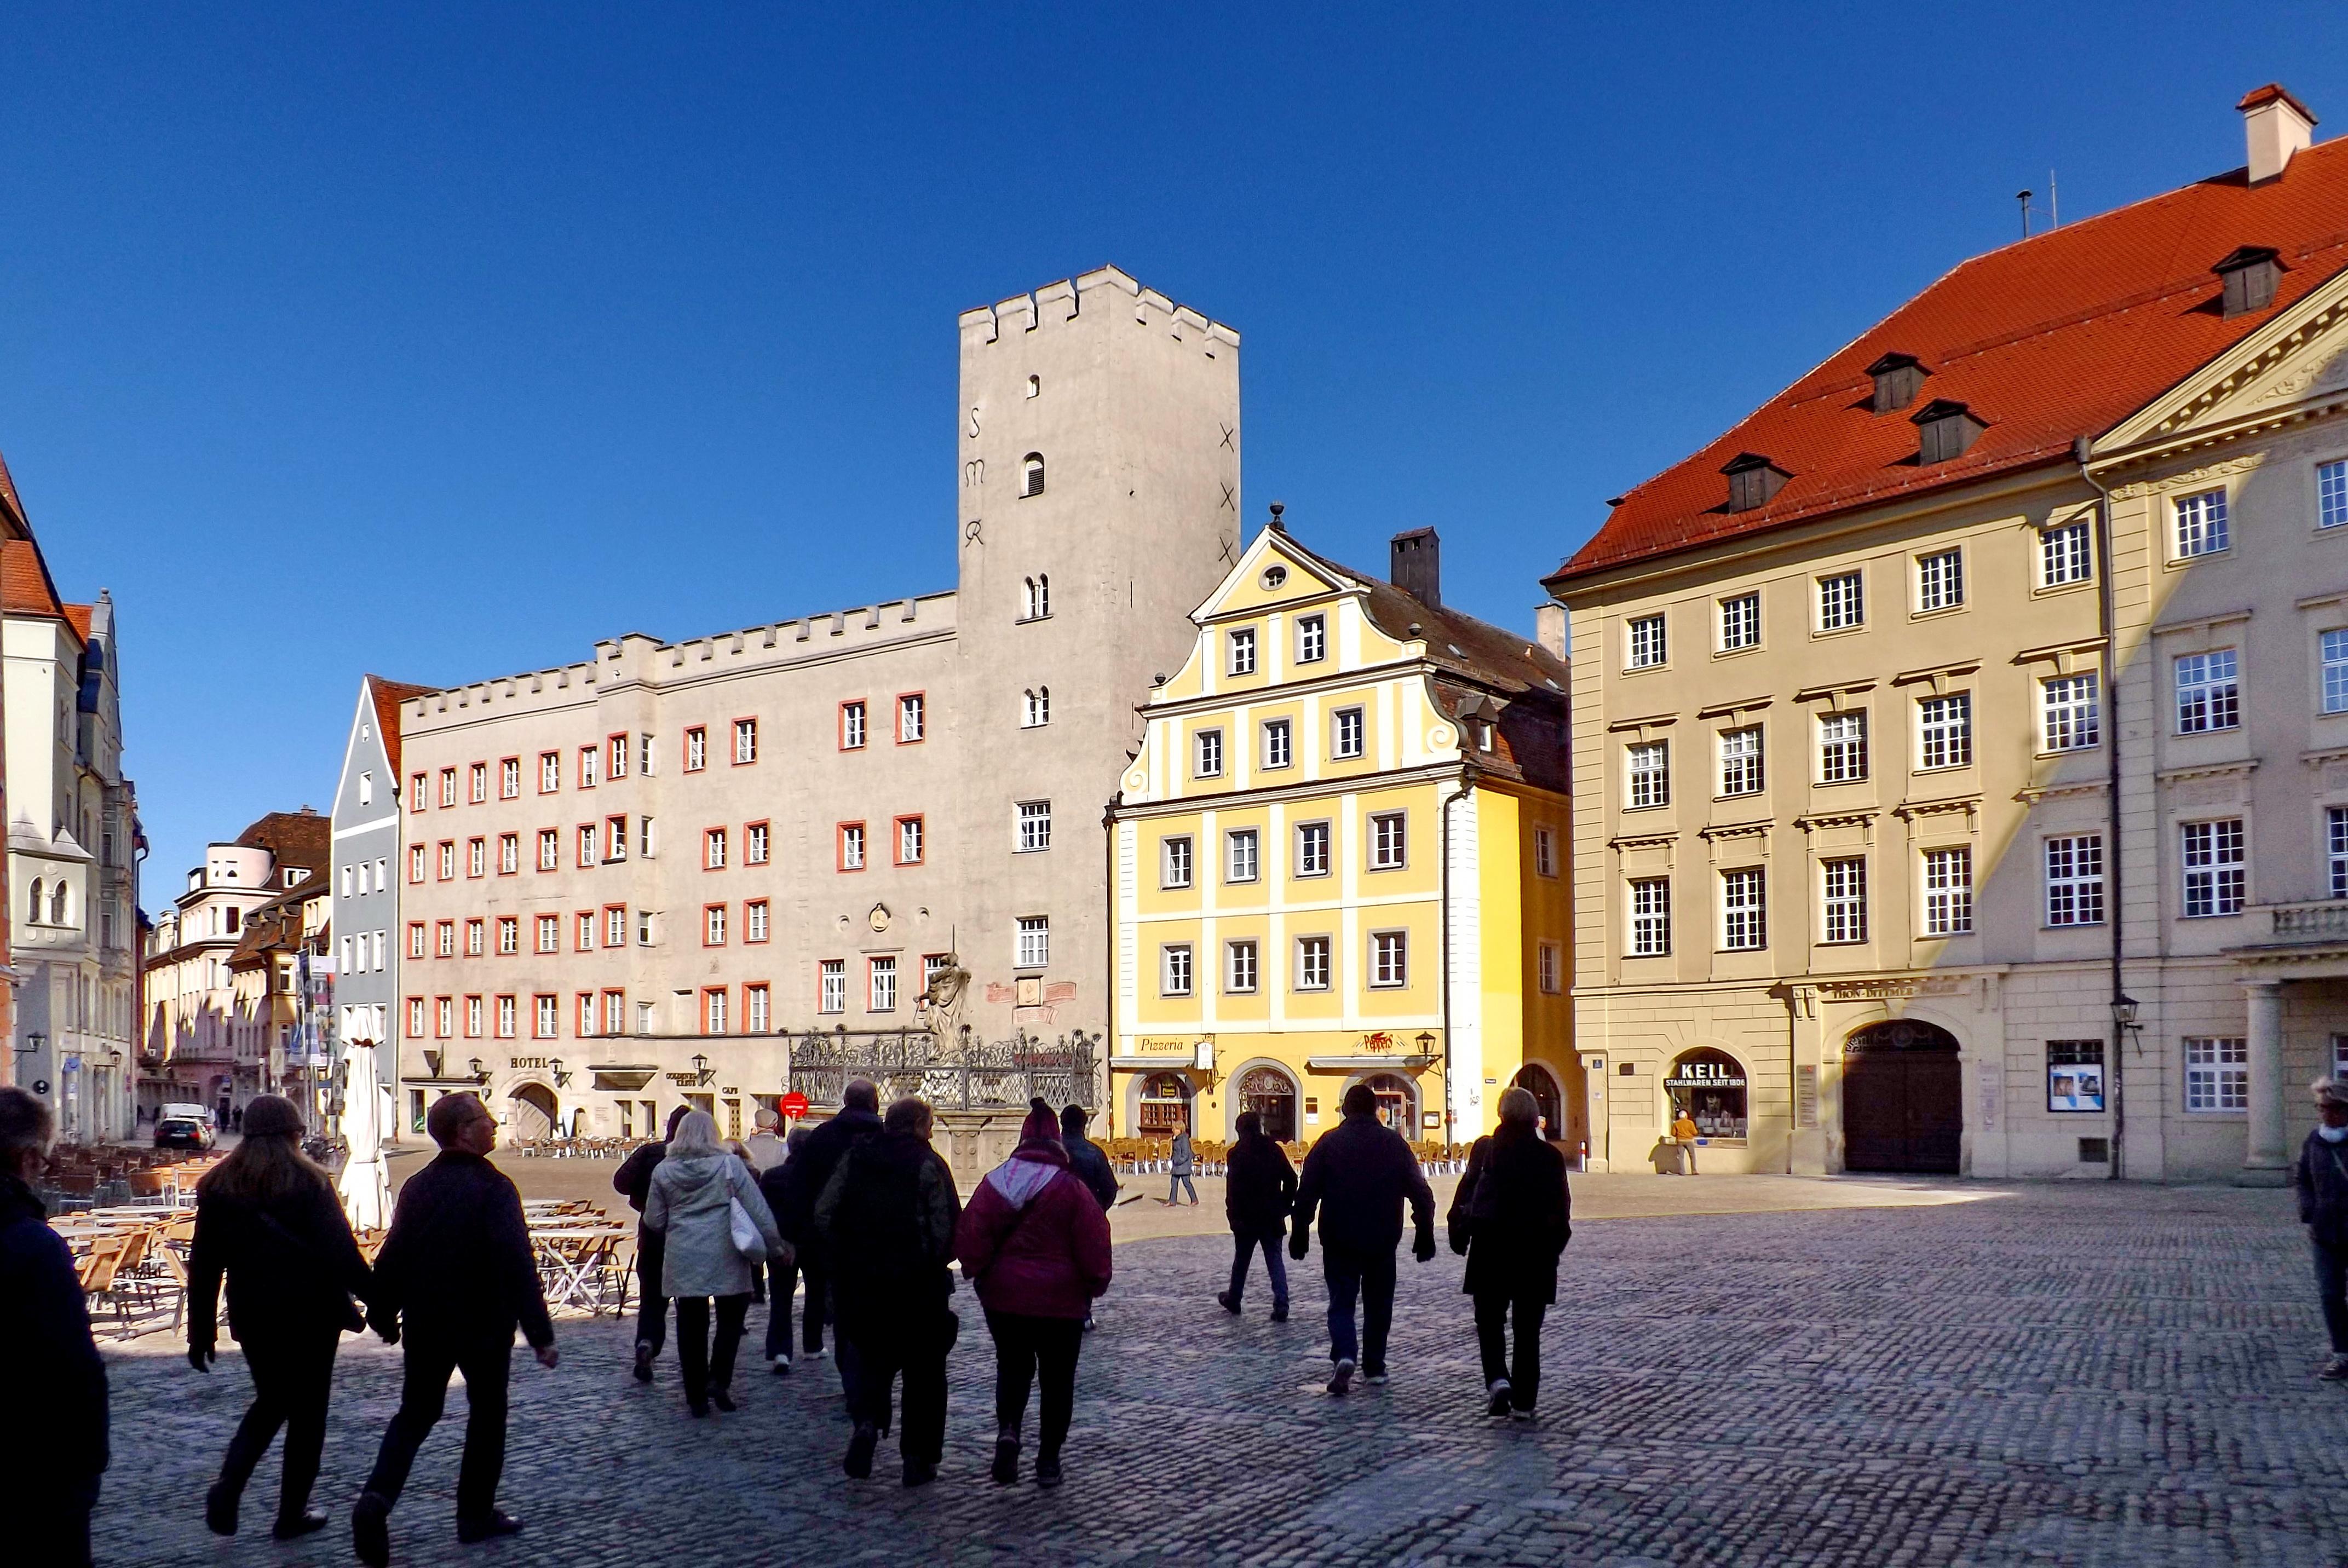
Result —
[{"label": "long crenellated beige hotel building including its tall square tower", "polygon": [[402,697],[404,1120],[747,1129],[784,1033],[1099,1038],[1101,810],[1237,559],[1237,347],[1113,268],[965,312],[956,592]]}]

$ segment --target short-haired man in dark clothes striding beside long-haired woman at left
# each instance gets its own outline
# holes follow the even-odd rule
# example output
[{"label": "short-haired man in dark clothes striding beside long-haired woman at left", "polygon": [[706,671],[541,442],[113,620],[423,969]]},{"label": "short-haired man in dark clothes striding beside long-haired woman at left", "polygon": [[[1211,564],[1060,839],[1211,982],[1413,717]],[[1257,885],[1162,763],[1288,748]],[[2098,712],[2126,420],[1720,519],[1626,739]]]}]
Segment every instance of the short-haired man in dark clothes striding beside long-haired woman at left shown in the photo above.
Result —
[{"label": "short-haired man in dark clothes striding beside long-haired woman at left", "polygon": [[376,1296],[366,1319],[387,1345],[406,1336],[399,1413],[383,1432],[376,1469],[350,1509],[352,1547],[369,1568],[392,1561],[392,1505],[441,1415],[453,1371],[465,1373],[470,1411],[465,1462],[456,1479],[456,1537],[470,1545],[521,1528],[519,1519],[498,1509],[514,1329],[521,1329],[540,1366],[556,1361],[521,1195],[488,1162],[488,1150],[498,1145],[498,1117],[479,1096],[448,1094],[425,1115],[425,1131],[441,1153],[399,1188],[392,1230],[376,1253]]}]

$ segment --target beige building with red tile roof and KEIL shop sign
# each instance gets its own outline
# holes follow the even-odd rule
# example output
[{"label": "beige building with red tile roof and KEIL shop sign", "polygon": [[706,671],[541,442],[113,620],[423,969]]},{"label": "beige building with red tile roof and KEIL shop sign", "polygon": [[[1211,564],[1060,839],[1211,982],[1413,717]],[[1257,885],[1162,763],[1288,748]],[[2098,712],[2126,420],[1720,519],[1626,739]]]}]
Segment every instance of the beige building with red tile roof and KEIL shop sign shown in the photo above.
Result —
[{"label": "beige building with red tile roof and KEIL shop sign", "polygon": [[1550,577],[1618,1169],[2280,1176],[2348,1052],[2348,150],[2240,110]]}]

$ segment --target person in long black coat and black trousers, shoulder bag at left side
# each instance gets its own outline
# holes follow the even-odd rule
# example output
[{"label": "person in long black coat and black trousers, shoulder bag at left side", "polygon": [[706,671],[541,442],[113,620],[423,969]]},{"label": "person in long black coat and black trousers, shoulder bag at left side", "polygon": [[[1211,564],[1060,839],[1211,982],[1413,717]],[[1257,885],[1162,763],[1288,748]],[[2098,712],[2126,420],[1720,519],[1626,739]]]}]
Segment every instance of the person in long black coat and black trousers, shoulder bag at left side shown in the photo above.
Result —
[{"label": "person in long black coat and black trousers, shoulder bag at left side", "polygon": [[[1573,1239],[1566,1157],[1540,1136],[1531,1089],[1500,1094],[1500,1127],[1468,1150],[1451,1199],[1451,1251],[1468,1253],[1460,1291],[1475,1298],[1484,1397],[1493,1415],[1533,1418],[1540,1394],[1540,1317],[1557,1300],[1557,1258]],[[1507,1359],[1514,1317],[1517,1359]]]}]

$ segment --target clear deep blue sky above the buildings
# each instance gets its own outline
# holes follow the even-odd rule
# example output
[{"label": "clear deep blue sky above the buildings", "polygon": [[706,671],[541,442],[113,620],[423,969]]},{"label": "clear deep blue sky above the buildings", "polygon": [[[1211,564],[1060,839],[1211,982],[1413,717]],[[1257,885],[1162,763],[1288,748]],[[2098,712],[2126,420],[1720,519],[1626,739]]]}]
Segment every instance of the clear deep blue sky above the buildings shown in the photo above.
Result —
[{"label": "clear deep blue sky above the buildings", "polygon": [[122,613],[150,908],[326,803],[366,669],[951,587],[970,305],[1108,261],[1230,322],[1249,519],[1435,523],[1531,627],[2050,167],[2080,218],[2266,80],[2348,122],[2289,2],[371,9],[9,16],[0,453]]}]

